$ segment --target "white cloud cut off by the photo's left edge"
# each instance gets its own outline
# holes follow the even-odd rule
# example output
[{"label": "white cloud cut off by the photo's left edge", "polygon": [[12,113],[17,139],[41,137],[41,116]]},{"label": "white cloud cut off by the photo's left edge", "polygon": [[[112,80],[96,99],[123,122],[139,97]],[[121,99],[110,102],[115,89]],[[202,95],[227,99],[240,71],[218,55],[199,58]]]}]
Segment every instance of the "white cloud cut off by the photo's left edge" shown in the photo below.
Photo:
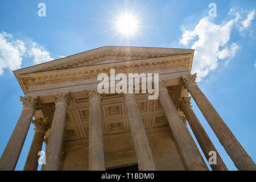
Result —
[{"label": "white cloud cut off by the photo's left edge", "polygon": [[26,47],[22,40],[14,40],[11,34],[0,33],[0,75],[3,69],[19,69]]}]

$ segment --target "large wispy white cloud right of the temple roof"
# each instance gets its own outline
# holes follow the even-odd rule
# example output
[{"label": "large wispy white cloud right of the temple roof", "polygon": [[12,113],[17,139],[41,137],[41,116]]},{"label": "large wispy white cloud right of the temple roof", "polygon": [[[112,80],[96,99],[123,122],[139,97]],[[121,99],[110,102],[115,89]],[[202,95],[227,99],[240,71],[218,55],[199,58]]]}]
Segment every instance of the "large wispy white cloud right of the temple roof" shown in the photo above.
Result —
[{"label": "large wispy white cloud right of the temple roof", "polygon": [[180,44],[191,46],[195,49],[192,73],[197,73],[197,81],[201,81],[218,67],[220,60],[226,59],[226,64],[232,59],[240,46],[237,43],[229,43],[230,35],[234,24],[240,30],[241,27],[248,28],[254,18],[255,10],[251,11],[243,21],[239,13],[233,13],[230,9],[228,14],[235,15],[235,18],[222,24],[213,23],[209,16],[200,19],[195,28],[191,31],[183,30]]}]

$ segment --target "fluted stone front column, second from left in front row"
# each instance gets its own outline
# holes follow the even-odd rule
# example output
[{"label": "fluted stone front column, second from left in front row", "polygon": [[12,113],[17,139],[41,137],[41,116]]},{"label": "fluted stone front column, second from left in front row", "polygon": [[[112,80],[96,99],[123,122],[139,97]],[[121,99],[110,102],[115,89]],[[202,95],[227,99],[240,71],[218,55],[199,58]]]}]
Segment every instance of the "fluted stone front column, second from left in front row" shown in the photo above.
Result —
[{"label": "fluted stone front column, second from left in front row", "polygon": [[69,92],[58,93],[55,94],[54,97],[56,101],[55,112],[52,119],[51,134],[47,144],[46,166],[44,167],[44,171],[59,170]]}]

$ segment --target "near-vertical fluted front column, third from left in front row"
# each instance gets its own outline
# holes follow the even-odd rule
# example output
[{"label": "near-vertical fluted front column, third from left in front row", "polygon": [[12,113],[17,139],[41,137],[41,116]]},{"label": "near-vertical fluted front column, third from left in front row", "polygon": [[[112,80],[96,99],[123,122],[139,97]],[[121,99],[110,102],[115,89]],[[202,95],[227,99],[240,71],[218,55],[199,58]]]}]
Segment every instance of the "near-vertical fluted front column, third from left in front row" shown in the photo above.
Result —
[{"label": "near-vertical fluted front column, third from left in front row", "polygon": [[89,115],[89,170],[104,171],[104,144],[101,121],[101,96],[96,89],[87,90]]}]

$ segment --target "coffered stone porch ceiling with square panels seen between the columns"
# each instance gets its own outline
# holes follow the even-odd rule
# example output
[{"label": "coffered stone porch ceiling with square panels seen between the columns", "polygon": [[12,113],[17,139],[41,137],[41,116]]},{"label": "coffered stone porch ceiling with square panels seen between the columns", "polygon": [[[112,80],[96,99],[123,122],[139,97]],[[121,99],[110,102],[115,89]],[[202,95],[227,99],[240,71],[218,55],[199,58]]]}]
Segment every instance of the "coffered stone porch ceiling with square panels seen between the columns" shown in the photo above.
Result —
[{"label": "coffered stone porch ceiling with square panels seen between the columns", "polygon": [[[168,87],[168,93],[177,107],[177,97],[181,86]],[[166,116],[159,100],[148,100],[147,94],[137,94],[136,100],[146,130],[168,126]],[[55,104],[47,104],[49,110],[43,114],[53,117]],[[101,102],[102,126],[104,135],[129,133],[129,119],[123,97],[109,94]],[[69,102],[65,118],[64,140],[79,140],[88,138],[89,100],[88,98],[74,99]]]}]

